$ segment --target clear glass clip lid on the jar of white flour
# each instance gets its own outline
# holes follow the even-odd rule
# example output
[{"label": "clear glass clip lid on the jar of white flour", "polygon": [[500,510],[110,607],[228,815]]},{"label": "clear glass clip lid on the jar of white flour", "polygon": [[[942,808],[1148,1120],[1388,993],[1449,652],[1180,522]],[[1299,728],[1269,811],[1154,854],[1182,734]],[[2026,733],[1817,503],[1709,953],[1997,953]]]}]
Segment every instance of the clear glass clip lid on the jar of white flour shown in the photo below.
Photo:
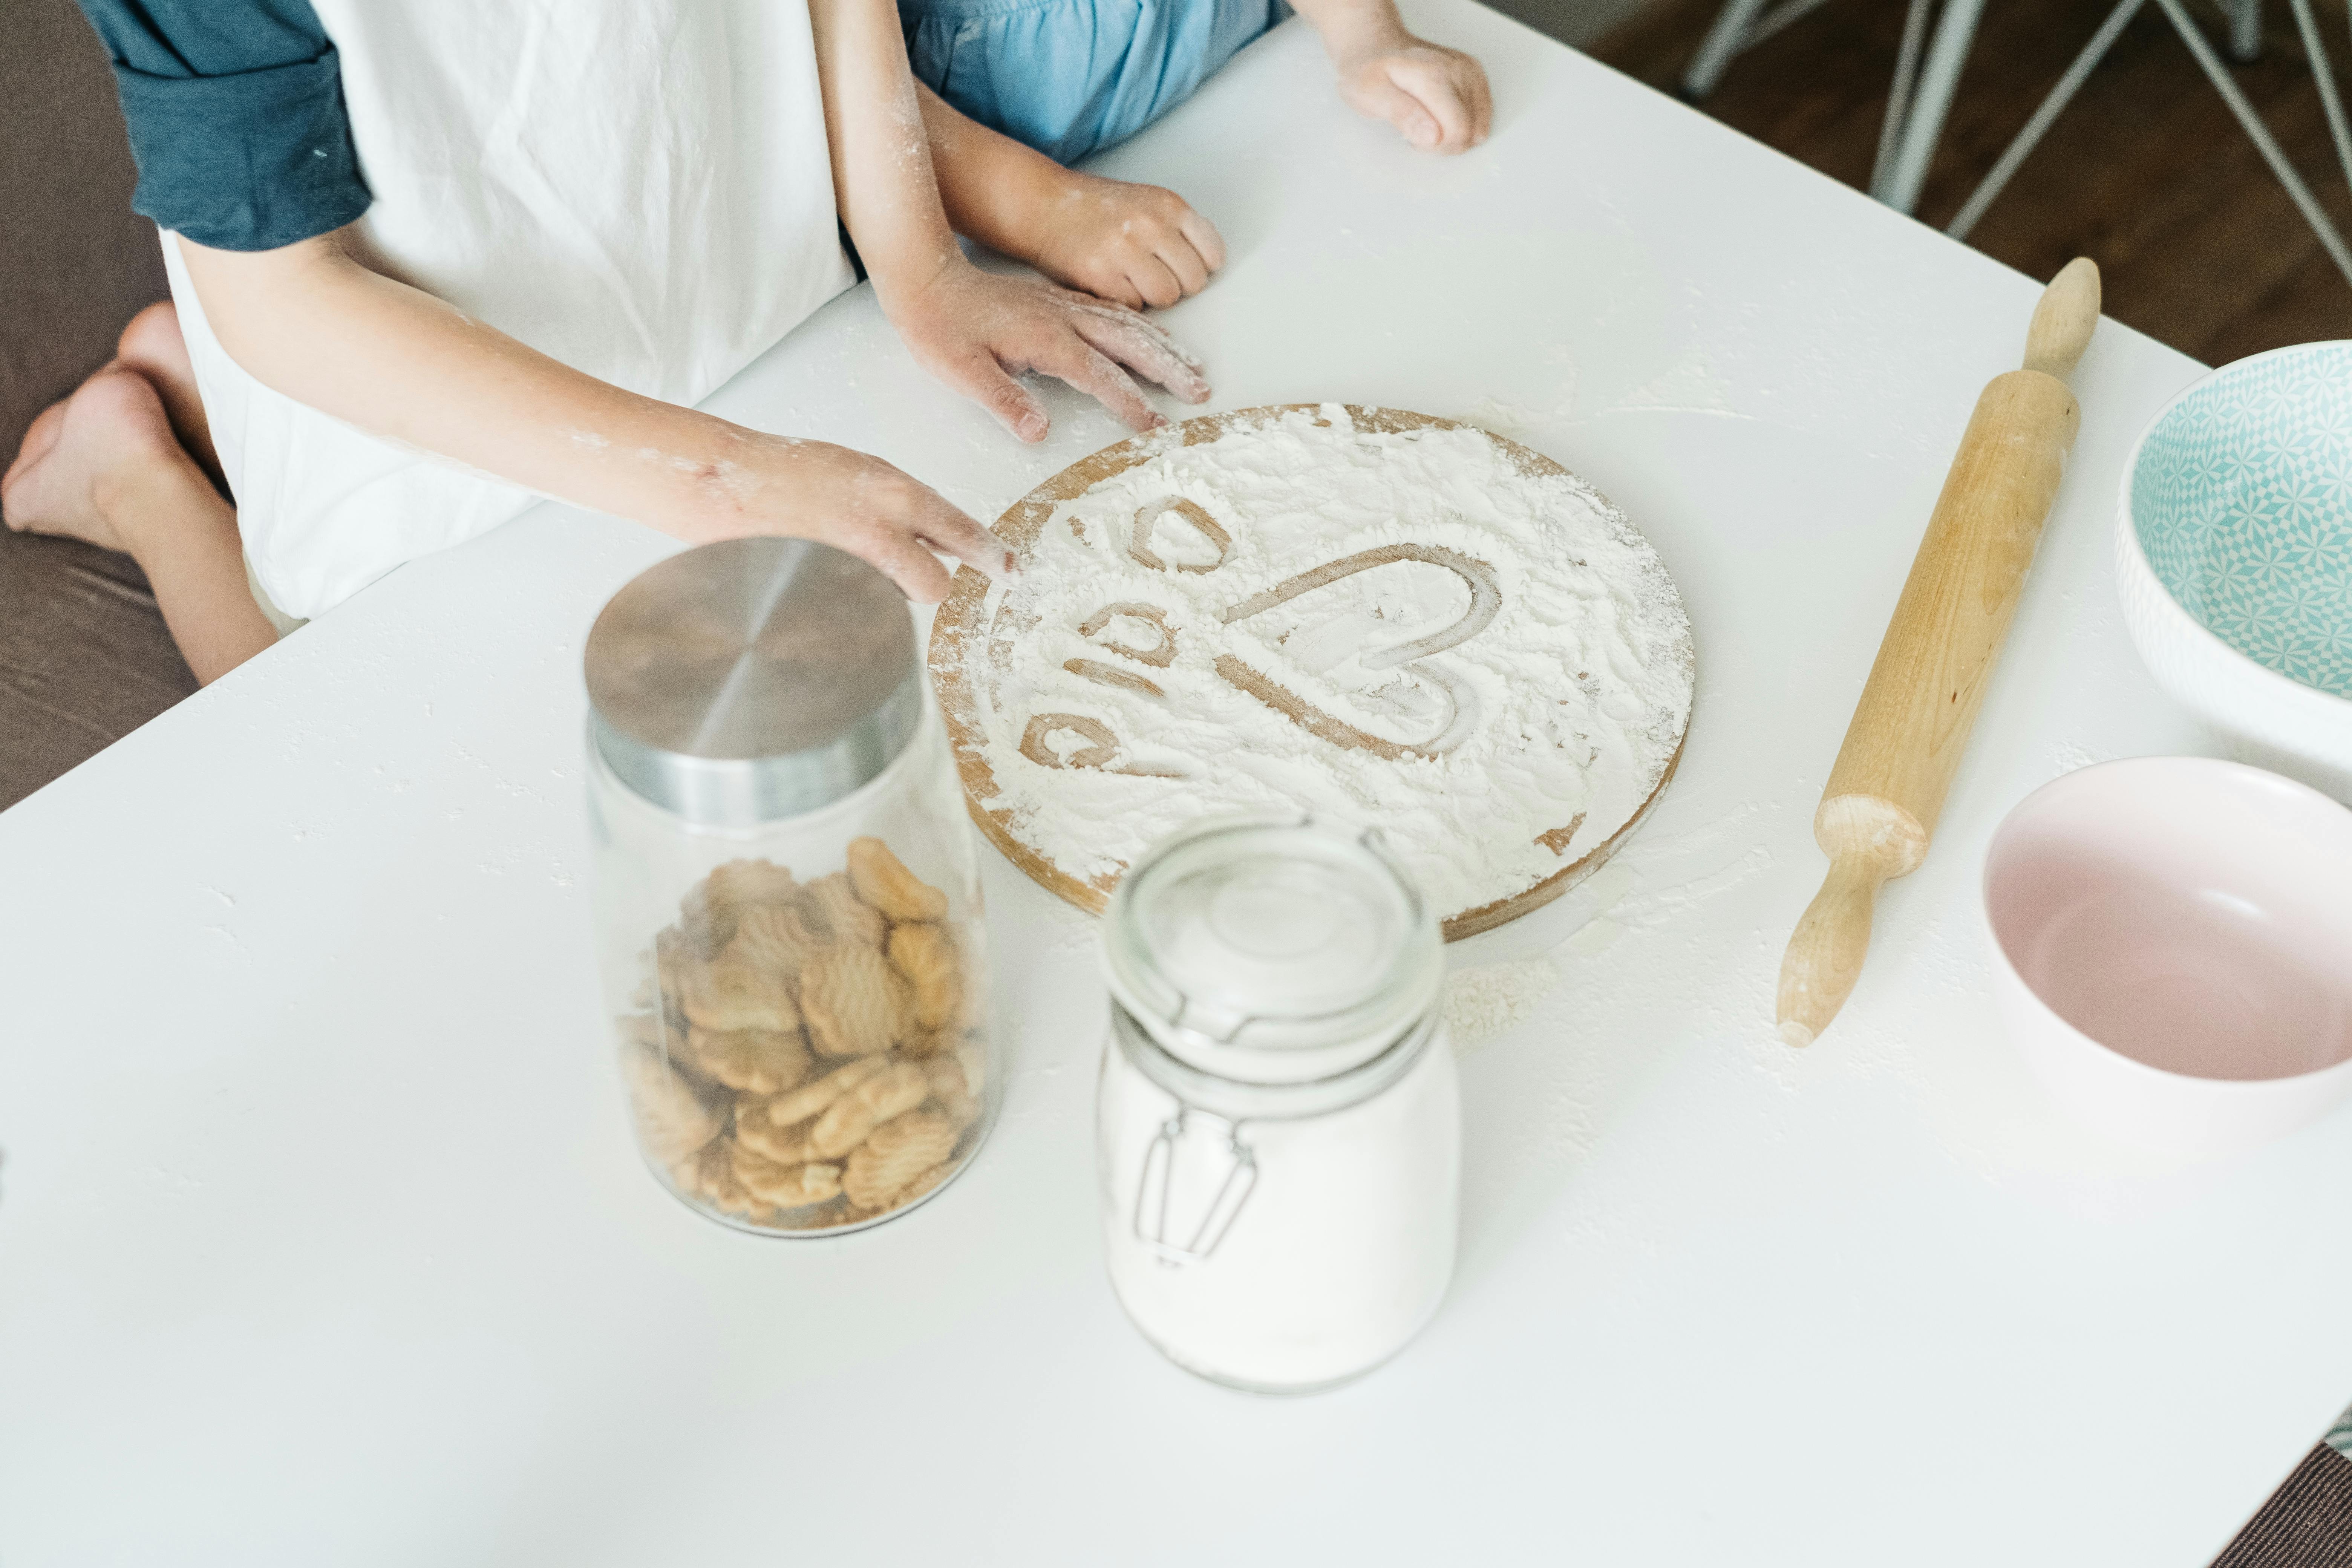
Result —
[{"label": "clear glass clip lid on the jar of white flour", "polygon": [[1383,1056],[1437,1006],[1442,947],[1378,832],[1308,816],[1162,839],[1103,912],[1110,994],[1230,1084],[1310,1084]]}]

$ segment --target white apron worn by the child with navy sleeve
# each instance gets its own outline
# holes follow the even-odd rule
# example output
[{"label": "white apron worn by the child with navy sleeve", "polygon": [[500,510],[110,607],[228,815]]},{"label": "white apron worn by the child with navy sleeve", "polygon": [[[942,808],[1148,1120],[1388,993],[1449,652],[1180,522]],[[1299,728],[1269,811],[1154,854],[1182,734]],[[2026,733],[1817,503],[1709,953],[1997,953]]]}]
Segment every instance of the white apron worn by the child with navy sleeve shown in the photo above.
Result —
[{"label": "white apron worn by the child with navy sleeve", "polygon": [[[590,376],[691,404],[851,284],[807,5],[313,0],[388,273]],[[165,263],[238,529],[318,616],[536,496],[273,393]]]}]

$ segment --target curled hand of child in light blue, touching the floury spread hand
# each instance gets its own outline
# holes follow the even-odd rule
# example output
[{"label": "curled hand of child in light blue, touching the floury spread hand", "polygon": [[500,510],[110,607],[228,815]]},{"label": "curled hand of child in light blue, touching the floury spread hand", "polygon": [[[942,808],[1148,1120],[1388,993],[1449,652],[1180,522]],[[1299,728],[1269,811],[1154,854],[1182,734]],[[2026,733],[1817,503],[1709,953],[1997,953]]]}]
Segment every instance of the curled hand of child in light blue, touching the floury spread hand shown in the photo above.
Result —
[{"label": "curled hand of child in light blue, touching the floury spread hand", "polygon": [[1134,310],[1209,287],[1225,240],[1174,190],[1054,169],[1035,205],[1028,261],[1056,282]]}]

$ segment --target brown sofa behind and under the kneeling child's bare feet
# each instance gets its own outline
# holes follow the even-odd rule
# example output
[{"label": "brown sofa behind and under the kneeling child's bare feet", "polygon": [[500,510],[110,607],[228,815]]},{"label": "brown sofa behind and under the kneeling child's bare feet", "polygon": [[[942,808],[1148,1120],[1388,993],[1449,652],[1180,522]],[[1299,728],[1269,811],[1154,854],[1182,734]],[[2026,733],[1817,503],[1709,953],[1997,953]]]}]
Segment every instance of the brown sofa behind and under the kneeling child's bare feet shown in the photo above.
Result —
[{"label": "brown sofa behind and under the kneeling child's bare feet", "polygon": [[[0,463],[162,299],[106,54],[73,0],[0,7]],[[0,809],[195,691],[127,557],[0,531]]]}]

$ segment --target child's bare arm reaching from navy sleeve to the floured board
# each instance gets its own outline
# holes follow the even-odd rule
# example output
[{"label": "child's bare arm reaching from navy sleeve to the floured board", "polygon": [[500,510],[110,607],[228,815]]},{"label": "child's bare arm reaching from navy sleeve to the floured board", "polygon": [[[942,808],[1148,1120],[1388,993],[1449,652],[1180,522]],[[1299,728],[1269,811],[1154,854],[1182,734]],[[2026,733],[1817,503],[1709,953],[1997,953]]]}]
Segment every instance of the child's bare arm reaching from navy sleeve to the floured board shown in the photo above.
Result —
[{"label": "child's bare arm reaching from navy sleeve to the floured board", "polygon": [[931,550],[983,571],[1009,559],[882,458],[623,393],[362,266],[348,233],[273,252],[179,242],[214,334],[263,386],[689,543],[788,534],[840,545],[913,599],[948,590]]}]

